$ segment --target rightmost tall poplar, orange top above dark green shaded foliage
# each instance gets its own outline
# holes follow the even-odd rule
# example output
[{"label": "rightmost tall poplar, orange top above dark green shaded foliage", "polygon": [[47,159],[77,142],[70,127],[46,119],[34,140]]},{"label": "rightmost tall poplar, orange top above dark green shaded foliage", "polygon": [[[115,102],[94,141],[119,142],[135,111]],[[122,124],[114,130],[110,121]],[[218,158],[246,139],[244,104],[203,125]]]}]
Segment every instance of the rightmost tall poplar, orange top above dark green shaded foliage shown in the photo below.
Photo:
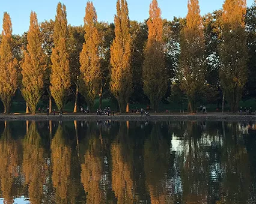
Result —
[{"label": "rightmost tall poplar, orange top above dark green shaded foliage", "polygon": [[222,13],[222,44],[219,71],[222,90],[231,111],[236,112],[247,82],[248,50],[245,33],[246,0],[226,0]]}]

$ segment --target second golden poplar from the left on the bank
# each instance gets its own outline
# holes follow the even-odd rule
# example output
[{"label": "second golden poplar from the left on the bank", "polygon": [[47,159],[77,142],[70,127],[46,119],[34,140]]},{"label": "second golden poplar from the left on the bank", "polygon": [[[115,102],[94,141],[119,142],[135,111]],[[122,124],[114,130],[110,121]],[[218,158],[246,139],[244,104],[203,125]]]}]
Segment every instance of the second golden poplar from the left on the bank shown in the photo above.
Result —
[{"label": "second golden poplar from the left on the bank", "polygon": [[28,31],[27,52],[22,64],[22,95],[31,113],[35,113],[38,101],[43,94],[46,58],[42,48],[42,36],[37,22],[37,14],[31,12]]}]

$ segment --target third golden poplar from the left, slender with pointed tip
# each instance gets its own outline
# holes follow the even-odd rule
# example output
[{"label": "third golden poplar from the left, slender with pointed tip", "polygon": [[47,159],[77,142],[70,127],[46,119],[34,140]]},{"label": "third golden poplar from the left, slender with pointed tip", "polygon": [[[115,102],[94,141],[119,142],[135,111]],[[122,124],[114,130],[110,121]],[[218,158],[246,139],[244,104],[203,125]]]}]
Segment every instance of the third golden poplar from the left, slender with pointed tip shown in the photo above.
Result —
[{"label": "third golden poplar from the left, slender with pointed tip", "polygon": [[67,13],[66,6],[60,2],[57,6],[53,32],[52,73],[50,92],[58,109],[62,112],[70,88],[69,53],[67,52]]}]

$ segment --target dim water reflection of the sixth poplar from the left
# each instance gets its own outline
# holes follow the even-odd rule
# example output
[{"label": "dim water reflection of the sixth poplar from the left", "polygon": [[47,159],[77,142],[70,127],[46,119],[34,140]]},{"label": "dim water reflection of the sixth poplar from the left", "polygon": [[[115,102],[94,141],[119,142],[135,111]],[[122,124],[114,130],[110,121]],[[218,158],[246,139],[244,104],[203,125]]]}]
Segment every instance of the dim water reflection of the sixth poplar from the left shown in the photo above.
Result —
[{"label": "dim water reflection of the sixth poplar from the left", "polygon": [[144,148],[146,185],[150,192],[151,203],[172,203],[166,187],[170,159],[169,142],[163,138],[160,124],[154,124]]}]

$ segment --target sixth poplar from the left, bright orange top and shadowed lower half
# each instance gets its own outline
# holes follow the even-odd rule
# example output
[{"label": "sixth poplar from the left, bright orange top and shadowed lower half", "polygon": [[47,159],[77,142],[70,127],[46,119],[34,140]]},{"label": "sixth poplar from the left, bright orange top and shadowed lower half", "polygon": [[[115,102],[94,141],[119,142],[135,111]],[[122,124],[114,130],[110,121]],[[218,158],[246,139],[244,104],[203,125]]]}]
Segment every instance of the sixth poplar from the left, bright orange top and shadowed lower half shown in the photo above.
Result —
[{"label": "sixth poplar from the left, bright orange top and shadowed lower half", "polygon": [[150,99],[151,106],[156,111],[160,100],[167,90],[167,73],[165,70],[165,55],[163,52],[163,22],[157,0],[150,4],[148,25],[148,41],[145,49],[143,65],[144,92]]}]

